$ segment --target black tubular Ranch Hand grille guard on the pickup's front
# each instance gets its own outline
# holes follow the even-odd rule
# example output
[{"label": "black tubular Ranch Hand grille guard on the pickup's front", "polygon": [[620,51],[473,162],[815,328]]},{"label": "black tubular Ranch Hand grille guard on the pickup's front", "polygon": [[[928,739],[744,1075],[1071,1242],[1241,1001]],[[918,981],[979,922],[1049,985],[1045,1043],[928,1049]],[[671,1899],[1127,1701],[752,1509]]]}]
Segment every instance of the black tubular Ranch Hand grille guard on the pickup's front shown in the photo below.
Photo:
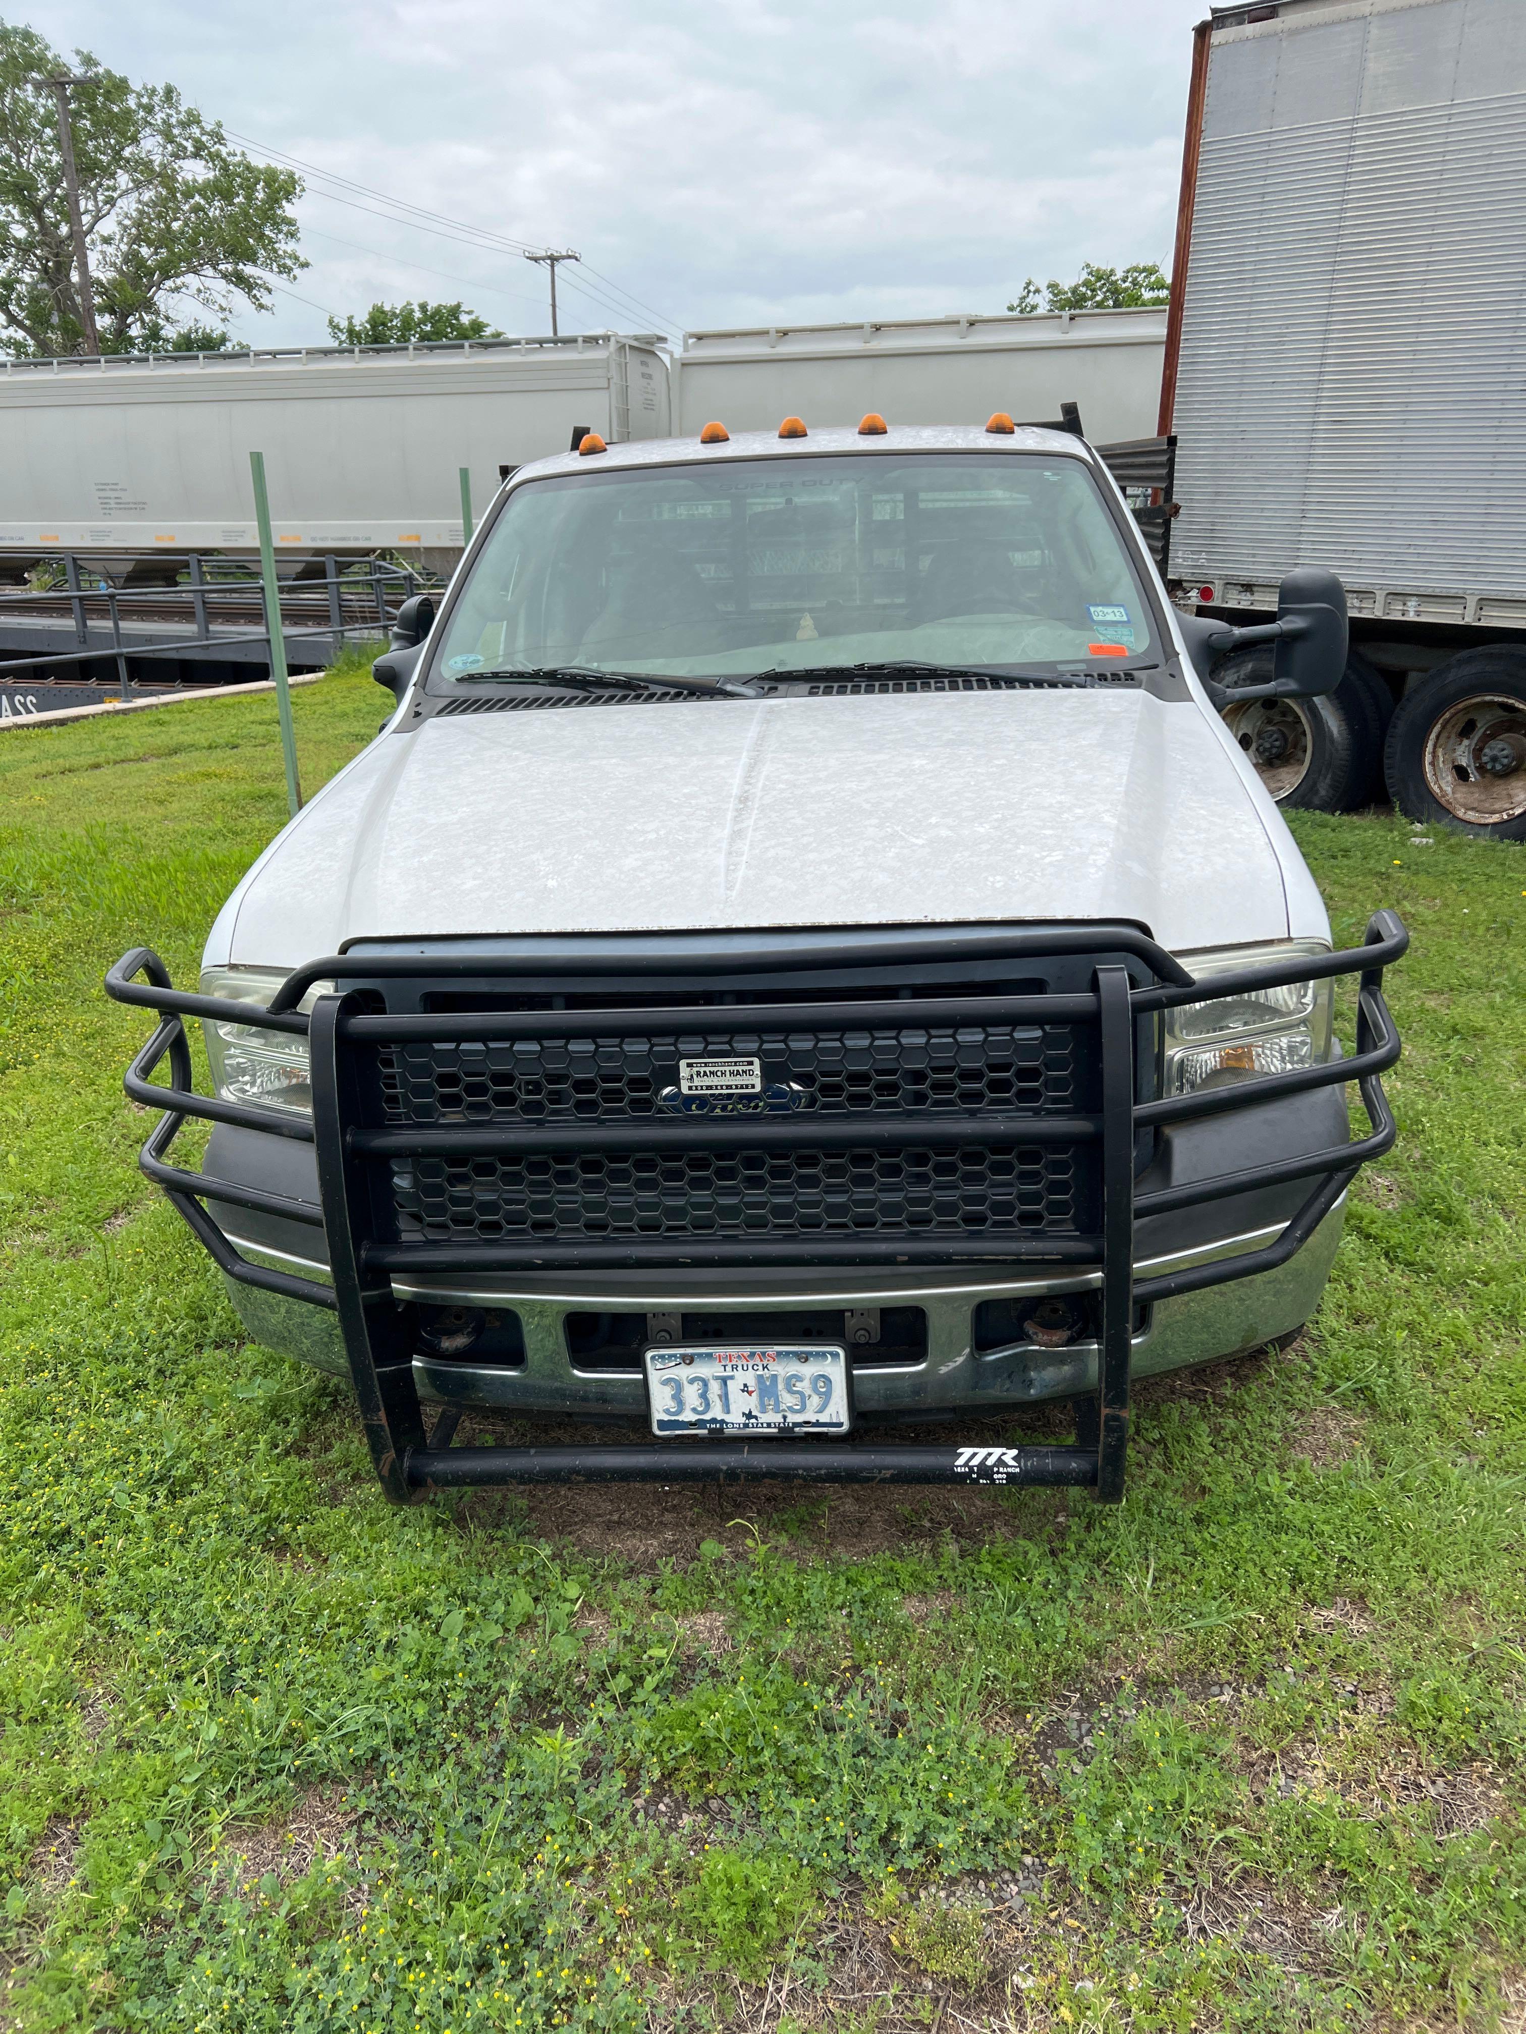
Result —
[{"label": "black tubular Ranch Hand grille guard on the pickup's front", "polygon": [[[1064,1483],[1117,1503],[1135,1310],[1286,1263],[1357,1168],[1394,1141],[1380,1074],[1400,1041],[1382,972],[1408,936],[1392,911],[1353,952],[1202,984],[1121,925],[604,946],[562,964],[560,980],[578,989],[568,995],[545,993],[545,942],[330,956],[291,974],[265,1011],[175,991],[149,948],[106,976],[116,1001],[161,1017],[126,1076],[134,1100],[163,1109],[142,1170],[230,1277],[338,1312],[376,1475],[397,1503],[456,1485],[724,1475]],[[1162,1011],[1335,974],[1361,978],[1355,1058],[1154,1092]],[[1003,986],[1030,976],[1036,986]],[[303,1015],[315,982],[334,991]],[[305,1033],[311,1123],[195,1094],[185,1017]],[[759,1058],[757,1113],[686,1113],[669,1080],[686,1054]],[[153,1078],[165,1060],[169,1086]],[[1367,1137],[1135,1192],[1164,1125],[1351,1080]],[[189,1117],[313,1143],[321,1210],[173,1165],[169,1147]],[[1310,1192],[1264,1249],[1133,1275],[1137,1216],[1298,1180]],[[208,1200],[321,1227],[334,1285],[250,1263]],[[393,1298],[393,1279],[411,1273],[971,1263],[1101,1275],[1101,1389],[1078,1401],[1072,1446],[450,1446],[450,1412],[433,1442],[425,1434],[415,1308]]]}]

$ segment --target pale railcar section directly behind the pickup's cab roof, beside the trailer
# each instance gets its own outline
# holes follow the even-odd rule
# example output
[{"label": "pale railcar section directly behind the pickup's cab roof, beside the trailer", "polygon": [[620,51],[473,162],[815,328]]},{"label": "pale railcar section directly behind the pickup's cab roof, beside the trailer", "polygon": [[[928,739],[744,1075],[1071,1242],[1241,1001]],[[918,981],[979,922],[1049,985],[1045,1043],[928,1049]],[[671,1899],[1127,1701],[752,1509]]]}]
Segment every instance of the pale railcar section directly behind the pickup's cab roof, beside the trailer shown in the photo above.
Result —
[{"label": "pale railcar section directly behind the pickup's cab roof, beside the trailer", "polygon": [[673,358],[673,427],[773,431],[808,425],[985,423],[1007,411],[1058,421],[1074,403],[1095,443],[1150,437],[1166,358],[1166,311],[1056,311],[857,325],[688,332]]}]

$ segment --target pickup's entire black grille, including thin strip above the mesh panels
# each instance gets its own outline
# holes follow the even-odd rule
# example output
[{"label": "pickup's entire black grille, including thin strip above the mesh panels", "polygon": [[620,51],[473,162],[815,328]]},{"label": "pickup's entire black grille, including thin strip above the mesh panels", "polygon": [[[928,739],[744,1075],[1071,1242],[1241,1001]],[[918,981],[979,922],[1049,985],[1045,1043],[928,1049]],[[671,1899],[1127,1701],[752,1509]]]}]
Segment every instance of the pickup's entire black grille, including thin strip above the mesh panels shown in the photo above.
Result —
[{"label": "pickup's entire black grille, including thin strip above the mesh panels", "polygon": [[[374,1119],[405,1133],[460,1125],[494,1137],[486,1151],[395,1155],[395,1235],[401,1243],[547,1249],[671,1241],[680,1251],[686,1241],[767,1237],[863,1237],[877,1249],[897,1237],[912,1249],[966,1237],[989,1247],[1003,1233],[1091,1237],[1101,1224],[1095,1147],[1015,1143],[1011,1121],[1087,1117],[1099,1106],[1091,1029],[985,1013],[958,1021],[971,1001],[1044,991],[1044,970],[1017,980],[948,970],[909,993],[887,974],[861,974],[853,989],[798,976],[737,976],[735,986],[570,978],[566,989],[541,980],[507,997],[419,984],[413,1007],[433,1009],[439,1033],[376,1045]],[[684,1009],[684,1029],[659,999]],[[741,1021],[728,1019],[735,1001],[751,1003]],[[787,1019],[771,1027],[759,1007],[785,1001]],[[822,1001],[820,1023],[804,1015],[814,1001]],[[891,1017],[887,1001],[905,1003],[905,1019]],[[879,1007],[857,1025],[844,1017],[850,1003]],[[600,1013],[594,1035],[578,1035],[562,1015],[566,1005]],[[547,1011],[545,1029],[537,1011]],[[513,1015],[509,1035],[492,1037],[494,1013]],[[454,1037],[458,1021],[474,1015],[486,1019],[488,1035]],[[739,1119],[730,1143],[724,1117],[676,1111],[680,1060],[690,1058],[761,1062],[763,1088],[787,1096],[773,1121],[779,1129],[794,1123],[800,1143],[787,1135],[749,1141],[743,1125],[757,1117]],[[989,1143],[969,1135],[971,1117],[981,1115],[1003,1119]],[[885,1141],[887,1117],[905,1123],[893,1141]],[[958,1139],[938,1135],[940,1117],[960,1123]],[[844,1139],[855,1119],[877,1135],[863,1145]],[[649,1147],[639,1135],[645,1123],[661,1127]],[[812,1123],[822,1133],[830,1125],[832,1137],[816,1141]],[[580,1147],[574,1129],[570,1149],[515,1149],[519,1129],[582,1125],[625,1135]],[[694,1125],[692,1145],[682,1125]]]}]

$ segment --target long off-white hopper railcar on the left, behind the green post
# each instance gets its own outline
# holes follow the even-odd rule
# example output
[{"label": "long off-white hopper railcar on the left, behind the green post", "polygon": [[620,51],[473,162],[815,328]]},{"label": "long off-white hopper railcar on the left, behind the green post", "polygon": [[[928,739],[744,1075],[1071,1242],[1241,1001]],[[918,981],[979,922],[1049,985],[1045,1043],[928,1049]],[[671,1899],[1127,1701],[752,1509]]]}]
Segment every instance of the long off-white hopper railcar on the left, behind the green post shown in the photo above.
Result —
[{"label": "long off-white hopper railcar on the left, behind the green post", "polygon": [[574,427],[667,435],[661,346],[596,334],[6,360],[0,551],[252,551],[256,450],[279,551],[454,563],[460,468],[480,511],[505,466],[566,452]]}]

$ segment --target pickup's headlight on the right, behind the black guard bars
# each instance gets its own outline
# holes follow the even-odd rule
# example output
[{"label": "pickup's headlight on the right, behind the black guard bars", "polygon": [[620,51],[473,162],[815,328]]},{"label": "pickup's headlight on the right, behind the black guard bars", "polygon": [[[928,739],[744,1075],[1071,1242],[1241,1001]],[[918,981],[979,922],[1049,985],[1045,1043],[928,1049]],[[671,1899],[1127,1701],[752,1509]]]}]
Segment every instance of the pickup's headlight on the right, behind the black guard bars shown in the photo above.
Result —
[{"label": "pickup's headlight on the right, behind the black guard bars", "polygon": [[[1274,940],[1215,954],[1182,954],[1198,980],[1276,960],[1329,954],[1323,940]],[[1166,1011],[1166,1094],[1221,1088],[1231,1080],[1288,1074],[1331,1056],[1331,982],[1288,982],[1184,1003]]]}]

